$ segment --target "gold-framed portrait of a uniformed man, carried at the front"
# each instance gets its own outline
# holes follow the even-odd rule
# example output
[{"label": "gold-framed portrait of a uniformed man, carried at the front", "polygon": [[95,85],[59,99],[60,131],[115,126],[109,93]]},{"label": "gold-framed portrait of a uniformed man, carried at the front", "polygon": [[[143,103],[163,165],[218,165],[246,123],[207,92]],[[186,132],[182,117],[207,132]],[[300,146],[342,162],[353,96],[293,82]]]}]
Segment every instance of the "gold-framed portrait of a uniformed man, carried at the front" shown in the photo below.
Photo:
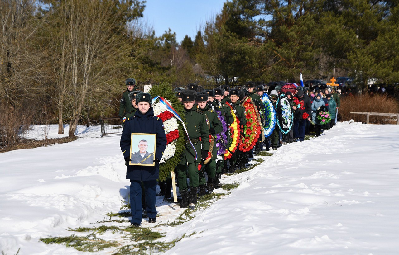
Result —
[{"label": "gold-framed portrait of a uniformed man, carried at the front", "polygon": [[154,166],[156,134],[132,133],[129,165]]}]

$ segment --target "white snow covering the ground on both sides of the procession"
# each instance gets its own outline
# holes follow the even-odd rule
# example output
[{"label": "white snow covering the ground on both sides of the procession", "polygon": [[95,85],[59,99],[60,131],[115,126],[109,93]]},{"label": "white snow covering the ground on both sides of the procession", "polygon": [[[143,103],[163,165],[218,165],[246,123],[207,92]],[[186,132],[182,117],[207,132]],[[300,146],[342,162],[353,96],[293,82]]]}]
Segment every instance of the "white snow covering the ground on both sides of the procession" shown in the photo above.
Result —
[{"label": "white snow covering the ground on both sides of the procession", "polygon": [[[36,126],[30,137],[40,133]],[[0,251],[83,254],[38,239],[71,235],[68,227],[91,227],[120,211],[129,182],[119,136],[101,138],[99,127],[84,126],[77,135],[70,143],[0,153]],[[56,125],[49,137],[60,137]],[[338,123],[264,159],[223,176],[239,187],[193,220],[160,227],[143,219],[142,226],[166,233],[165,241],[196,231],[168,254],[399,253],[399,126]],[[183,211],[162,197],[157,204],[158,222]]]}]

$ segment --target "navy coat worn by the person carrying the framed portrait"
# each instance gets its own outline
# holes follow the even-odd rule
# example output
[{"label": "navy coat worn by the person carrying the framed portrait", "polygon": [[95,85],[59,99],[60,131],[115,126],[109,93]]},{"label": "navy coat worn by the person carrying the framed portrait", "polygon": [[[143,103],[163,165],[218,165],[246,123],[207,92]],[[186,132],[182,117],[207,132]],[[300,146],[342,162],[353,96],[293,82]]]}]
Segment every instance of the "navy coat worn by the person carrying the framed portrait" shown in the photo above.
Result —
[{"label": "navy coat worn by the person carrying the framed portrait", "polygon": [[[137,110],[134,117],[130,118],[124,125],[122,136],[120,137],[120,149],[122,150],[124,159],[130,157],[131,133],[156,134],[155,157],[158,159],[162,158],[166,148],[166,134],[162,120],[154,116],[152,107],[150,107],[146,114],[141,114],[141,112]],[[126,179],[156,180],[158,177],[158,164],[155,164],[155,166],[128,165],[126,167]]]}]

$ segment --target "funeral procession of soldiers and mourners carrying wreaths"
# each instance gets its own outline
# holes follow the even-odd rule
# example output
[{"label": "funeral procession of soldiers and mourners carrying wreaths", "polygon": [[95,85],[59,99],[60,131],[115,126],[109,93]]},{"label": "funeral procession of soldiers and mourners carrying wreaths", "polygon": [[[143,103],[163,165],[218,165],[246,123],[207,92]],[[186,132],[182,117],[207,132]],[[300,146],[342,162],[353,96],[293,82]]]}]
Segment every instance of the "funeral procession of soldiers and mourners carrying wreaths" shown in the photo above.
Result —
[{"label": "funeral procession of soldiers and mourners carrying wreaths", "polygon": [[[126,80],[126,86],[119,110],[124,126],[120,147],[126,161],[126,179],[130,180],[131,226],[138,227],[142,210],[146,210],[149,222],[156,222],[156,186],[160,186],[158,195],[170,198],[172,178],[157,182],[166,135],[162,120],[154,116],[152,96],[138,90],[133,78]],[[247,167],[254,155],[261,151],[278,149],[284,143],[304,141],[306,133],[313,129],[317,136],[320,135],[322,130],[335,125],[340,107],[340,91],[330,87],[294,86],[284,90],[284,86],[278,84],[268,87],[248,81],[243,86],[231,88],[225,85],[213,89],[190,83],[186,88],[174,88],[174,92],[184,107],[187,129],[184,151],[176,155],[180,159],[175,168],[180,208],[195,205],[199,196],[221,188],[223,173],[234,173]],[[284,111],[292,116],[289,117],[292,124],[284,131],[278,121],[269,122],[265,115],[268,109],[266,101],[271,102],[269,108],[273,107],[277,115],[281,112],[277,105],[280,98],[289,102],[286,106],[289,109],[284,108]],[[267,135],[263,133],[266,125],[273,125],[273,132]],[[152,165],[132,165],[132,133],[156,134]],[[251,144],[245,144],[246,141],[251,141]],[[145,155],[144,150],[137,152],[134,161],[140,161],[140,157],[144,161]]]}]

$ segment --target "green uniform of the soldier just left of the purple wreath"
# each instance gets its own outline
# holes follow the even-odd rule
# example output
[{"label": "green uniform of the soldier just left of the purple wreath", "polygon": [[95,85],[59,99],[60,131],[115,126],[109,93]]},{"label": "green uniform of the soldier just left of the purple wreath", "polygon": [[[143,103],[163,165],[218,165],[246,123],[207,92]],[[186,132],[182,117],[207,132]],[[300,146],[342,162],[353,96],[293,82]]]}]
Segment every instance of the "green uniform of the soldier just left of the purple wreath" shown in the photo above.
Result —
[{"label": "green uniform of the soldier just left of the purple wreath", "polygon": [[[221,133],[223,131],[223,125],[219,120],[219,118],[217,118],[217,113],[214,110],[209,109],[208,104],[205,106],[204,109],[199,109],[199,110],[205,114],[209,123],[209,129],[214,129],[214,133],[211,134],[213,135],[213,137],[215,137],[215,134]],[[208,175],[208,178],[211,179],[213,186],[213,179],[215,178],[216,174],[216,157],[217,157],[217,147],[215,144],[215,140],[213,141],[213,143],[214,143],[213,149],[211,151],[212,158],[205,166],[202,166],[201,171],[199,172],[199,185],[206,184],[205,173],[204,173],[205,170]]]}]

